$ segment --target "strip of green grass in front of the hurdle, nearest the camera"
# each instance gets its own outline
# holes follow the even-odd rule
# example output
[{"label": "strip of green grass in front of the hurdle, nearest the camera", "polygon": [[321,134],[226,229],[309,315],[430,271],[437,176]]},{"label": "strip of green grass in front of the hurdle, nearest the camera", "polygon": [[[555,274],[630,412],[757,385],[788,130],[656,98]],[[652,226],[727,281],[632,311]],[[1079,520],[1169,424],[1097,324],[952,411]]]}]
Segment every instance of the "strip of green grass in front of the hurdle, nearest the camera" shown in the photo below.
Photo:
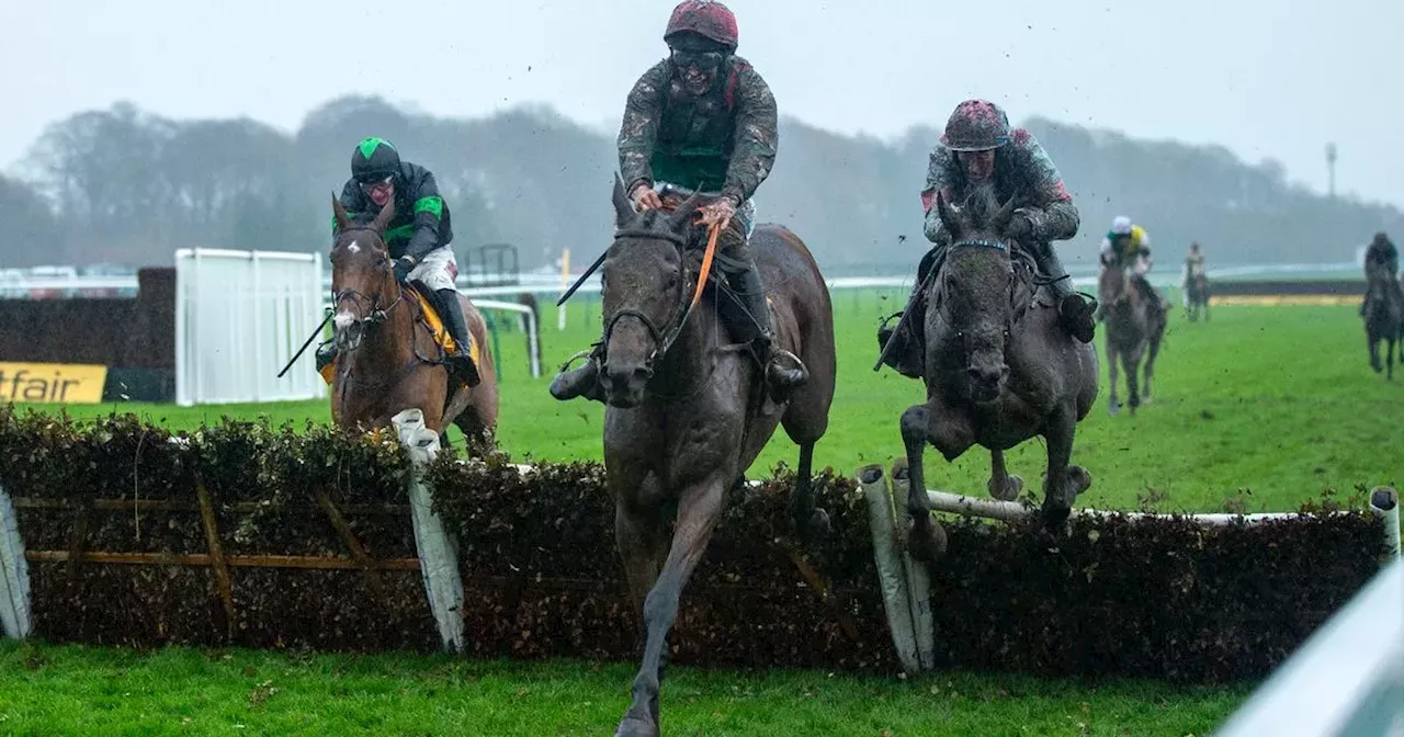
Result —
[{"label": "strip of green grass in front of the hurdle, nearest the camera", "polygon": [[[609,734],[630,664],[0,643],[4,734]],[[671,668],[667,734],[1206,734],[1247,688]]]}]

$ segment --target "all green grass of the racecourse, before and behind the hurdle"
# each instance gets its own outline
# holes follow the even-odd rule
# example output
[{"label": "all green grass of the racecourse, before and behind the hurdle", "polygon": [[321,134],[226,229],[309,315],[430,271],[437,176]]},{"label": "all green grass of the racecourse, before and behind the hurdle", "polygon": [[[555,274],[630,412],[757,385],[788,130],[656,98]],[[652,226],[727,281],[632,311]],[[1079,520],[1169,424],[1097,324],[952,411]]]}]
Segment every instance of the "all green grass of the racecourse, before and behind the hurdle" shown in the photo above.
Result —
[{"label": "all green grass of the racecourse, before and behind the hurdle", "polygon": [[[883,299],[887,296],[887,299]],[[840,387],[817,463],[851,472],[900,452],[897,417],[915,382],[869,371],[872,328],[900,295],[838,293]],[[549,317],[548,312],[548,317]],[[552,320],[548,319],[548,323]],[[546,330],[548,362],[588,344],[598,313]],[[1323,489],[1393,483],[1404,378],[1366,365],[1352,306],[1231,306],[1209,324],[1178,310],[1161,355],[1157,396],[1137,417],[1108,417],[1104,389],[1080,425],[1074,459],[1094,477],[1082,505],[1219,511],[1292,510]],[[518,458],[601,455],[601,409],[562,404],[532,380],[519,334],[501,336],[500,442]],[[48,410],[52,410],[49,407]],[[220,414],[326,421],[326,403],[261,407],[90,406],[132,410],[176,428]],[[751,473],[793,463],[776,438]],[[934,486],[984,489],[987,455],[953,465],[928,453]],[[1035,480],[1043,448],[1011,467]],[[1154,491],[1154,493],[1153,493]],[[684,599],[684,605],[685,599]],[[6,734],[608,734],[628,705],[632,664],[522,664],[388,654],[156,653],[0,643],[0,733]],[[1206,734],[1251,692],[1154,682],[1064,682],[936,674],[910,681],[826,672],[673,668],[663,689],[670,734]]]}]

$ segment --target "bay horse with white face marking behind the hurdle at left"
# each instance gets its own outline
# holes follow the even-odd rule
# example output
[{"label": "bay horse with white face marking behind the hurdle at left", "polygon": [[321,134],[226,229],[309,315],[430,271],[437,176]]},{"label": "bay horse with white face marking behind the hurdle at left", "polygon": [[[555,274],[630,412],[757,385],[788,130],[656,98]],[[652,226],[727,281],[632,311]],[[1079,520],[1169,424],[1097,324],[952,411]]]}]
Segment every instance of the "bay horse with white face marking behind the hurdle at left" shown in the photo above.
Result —
[{"label": "bay horse with white face marking behind the hurdle at left", "polygon": [[477,343],[482,382],[469,389],[451,385],[444,351],[435,343],[423,303],[410,286],[395,279],[385,229],[395,202],[371,223],[355,223],[341,201],[331,198],[337,239],[331,247],[331,292],[336,373],[331,418],[337,427],[388,427],[406,409],[418,407],[424,425],[448,445],[448,425],[456,424],[470,453],[493,448],[497,427],[497,375],[487,344],[483,314],[459,295],[469,333]]}]

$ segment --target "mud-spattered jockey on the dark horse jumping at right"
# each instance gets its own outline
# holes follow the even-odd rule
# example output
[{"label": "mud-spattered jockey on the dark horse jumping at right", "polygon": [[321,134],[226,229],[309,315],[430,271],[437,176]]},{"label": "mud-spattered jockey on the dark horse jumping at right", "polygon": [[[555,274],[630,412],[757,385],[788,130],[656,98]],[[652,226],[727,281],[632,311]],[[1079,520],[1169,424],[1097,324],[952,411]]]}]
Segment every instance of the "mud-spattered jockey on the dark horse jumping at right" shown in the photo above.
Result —
[{"label": "mud-spattered jockey on the dark horse jumping at right", "polygon": [[[1063,328],[1077,340],[1091,343],[1095,331],[1091,305],[1073,289],[1073,281],[1067,278],[1052,243],[1077,234],[1077,206],[1043,146],[1028,131],[1011,129],[1008,117],[994,102],[960,102],[946,121],[941,142],[931,152],[921,204],[925,209],[927,240],[935,247],[921,260],[918,289],[927,270],[951,244],[951,233],[935,208],[936,194],[946,202],[959,204],[972,185],[984,181],[993,181],[1001,201],[1015,198],[1016,209],[1007,234],[1016,239],[1038,261],[1039,270],[1054,279],[1050,286],[1059,300]],[[920,310],[920,299],[921,295],[913,292],[907,309]],[[883,362],[904,376],[920,378],[924,361],[920,320],[906,323],[903,328],[904,334],[897,337],[900,343],[893,345]],[[883,324],[878,330],[879,348],[892,336],[893,328]],[[917,340],[910,340],[908,336],[915,336]]]}]

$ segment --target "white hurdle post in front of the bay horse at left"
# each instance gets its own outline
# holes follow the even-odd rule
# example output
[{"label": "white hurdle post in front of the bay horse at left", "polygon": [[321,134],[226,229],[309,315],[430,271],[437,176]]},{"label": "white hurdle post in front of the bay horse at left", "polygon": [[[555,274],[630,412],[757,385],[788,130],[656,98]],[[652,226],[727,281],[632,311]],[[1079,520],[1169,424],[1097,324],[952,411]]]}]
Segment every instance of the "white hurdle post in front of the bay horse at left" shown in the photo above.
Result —
[{"label": "white hurdle post in front of the bay horse at left", "polygon": [[404,410],[390,418],[400,444],[410,452],[414,474],[410,479],[410,510],[414,519],[414,545],[420,555],[420,573],[430,609],[438,622],[444,649],[463,650],[463,580],[458,573],[458,540],[444,529],[444,519],[434,514],[432,497],[423,482],[423,469],[438,453],[438,432],[424,427],[424,413]]}]

